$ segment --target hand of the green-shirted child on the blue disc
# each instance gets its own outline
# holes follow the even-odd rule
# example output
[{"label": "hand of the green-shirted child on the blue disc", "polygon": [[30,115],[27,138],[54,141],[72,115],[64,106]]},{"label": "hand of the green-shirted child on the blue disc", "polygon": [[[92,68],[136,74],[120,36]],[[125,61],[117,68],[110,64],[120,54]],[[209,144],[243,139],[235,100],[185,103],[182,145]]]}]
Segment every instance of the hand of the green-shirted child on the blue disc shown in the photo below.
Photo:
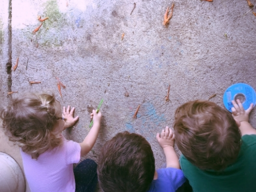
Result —
[{"label": "hand of the green-shirted child on the blue disc", "polygon": [[239,99],[237,99],[237,103],[235,101],[232,101],[232,104],[234,105],[234,107],[231,108],[231,111],[234,119],[239,122],[241,121],[249,122],[249,113],[253,109],[253,103],[250,105],[250,107],[247,110],[244,110],[243,104],[240,102]]}]

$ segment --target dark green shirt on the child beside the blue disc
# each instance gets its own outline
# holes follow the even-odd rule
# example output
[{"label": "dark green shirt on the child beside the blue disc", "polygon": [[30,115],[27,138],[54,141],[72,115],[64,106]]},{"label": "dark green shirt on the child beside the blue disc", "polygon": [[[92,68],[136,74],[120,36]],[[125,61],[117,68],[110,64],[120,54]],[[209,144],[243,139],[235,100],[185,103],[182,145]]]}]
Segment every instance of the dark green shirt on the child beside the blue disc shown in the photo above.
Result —
[{"label": "dark green shirt on the child beside the blue disc", "polygon": [[183,155],[179,163],[194,192],[256,191],[256,135],[242,136],[236,162],[222,172],[202,171]]}]

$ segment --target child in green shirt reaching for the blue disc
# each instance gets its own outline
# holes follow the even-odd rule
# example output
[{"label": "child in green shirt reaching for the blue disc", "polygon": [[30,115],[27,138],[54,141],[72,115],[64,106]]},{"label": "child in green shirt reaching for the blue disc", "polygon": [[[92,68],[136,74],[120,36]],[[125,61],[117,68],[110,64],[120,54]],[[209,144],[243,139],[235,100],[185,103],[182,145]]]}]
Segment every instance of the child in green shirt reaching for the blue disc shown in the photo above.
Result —
[{"label": "child in green shirt reaching for the blue disc", "polygon": [[232,114],[199,100],[175,112],[180,166],[194,192],[256,191],[256,130],[249,123],[253,104],[247,110],[239,99],[232,104]]}]

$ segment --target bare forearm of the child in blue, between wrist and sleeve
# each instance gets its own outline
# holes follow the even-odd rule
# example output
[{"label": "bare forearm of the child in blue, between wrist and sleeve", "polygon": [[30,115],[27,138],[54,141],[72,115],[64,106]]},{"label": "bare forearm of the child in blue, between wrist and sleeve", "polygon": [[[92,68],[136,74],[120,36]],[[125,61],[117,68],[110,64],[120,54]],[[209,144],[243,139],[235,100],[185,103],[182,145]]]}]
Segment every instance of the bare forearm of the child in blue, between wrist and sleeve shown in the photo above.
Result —
[{"label": "bare forearm of the child in blue, between wrist and sleeve", "polygon": [[163,152],[166,157],[166,167],[180,168],[179,159],[174,147],[165,147],[163,148]]}]

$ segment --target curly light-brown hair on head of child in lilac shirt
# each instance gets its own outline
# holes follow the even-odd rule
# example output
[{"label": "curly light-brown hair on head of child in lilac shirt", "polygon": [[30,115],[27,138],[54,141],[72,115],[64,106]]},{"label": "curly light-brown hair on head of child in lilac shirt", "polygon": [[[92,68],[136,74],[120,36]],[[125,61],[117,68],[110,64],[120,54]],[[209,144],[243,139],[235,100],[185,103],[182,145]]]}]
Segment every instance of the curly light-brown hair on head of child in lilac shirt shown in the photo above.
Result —
[{"label": "curly light-brown hair on head of child in lilac shirt", "polygon": [[32,158],[62,143],[52,134],[60,106],[54,95],[27,93],[13,98],[1,111],[3,128],[9,140]]}]

